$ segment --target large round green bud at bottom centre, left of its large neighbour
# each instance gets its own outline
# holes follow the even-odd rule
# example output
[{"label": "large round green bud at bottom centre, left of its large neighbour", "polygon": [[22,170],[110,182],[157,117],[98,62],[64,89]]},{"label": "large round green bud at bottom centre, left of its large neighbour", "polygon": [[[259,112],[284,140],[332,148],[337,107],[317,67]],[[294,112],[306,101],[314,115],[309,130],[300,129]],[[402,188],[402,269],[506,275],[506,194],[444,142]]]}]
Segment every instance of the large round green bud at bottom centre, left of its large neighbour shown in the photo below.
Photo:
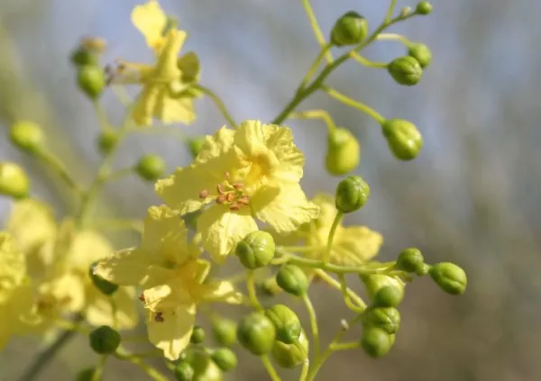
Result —
[{"label": "large round green bud at bottom centre, left of its large neighbour", "polygon": [[269,353],[276,340],[276,327],[263,313],[249,313],[237,327],[237,339],[254,355]]}]

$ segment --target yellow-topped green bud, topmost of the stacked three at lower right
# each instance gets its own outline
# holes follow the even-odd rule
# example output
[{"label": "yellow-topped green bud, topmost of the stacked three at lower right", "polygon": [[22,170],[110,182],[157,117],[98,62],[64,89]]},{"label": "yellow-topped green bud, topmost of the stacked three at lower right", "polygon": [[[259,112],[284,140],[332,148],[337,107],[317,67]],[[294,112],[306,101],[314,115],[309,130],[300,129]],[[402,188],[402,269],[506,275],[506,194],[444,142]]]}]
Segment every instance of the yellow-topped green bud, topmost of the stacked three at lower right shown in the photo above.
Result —
[{"label": "yellow-topped green bud, topmost of the stacked three at lower right", "polygon": [[396,307],[404,298],[404,284],[395,277],[374,274],[361,277],[371,301],[381,307]]}]

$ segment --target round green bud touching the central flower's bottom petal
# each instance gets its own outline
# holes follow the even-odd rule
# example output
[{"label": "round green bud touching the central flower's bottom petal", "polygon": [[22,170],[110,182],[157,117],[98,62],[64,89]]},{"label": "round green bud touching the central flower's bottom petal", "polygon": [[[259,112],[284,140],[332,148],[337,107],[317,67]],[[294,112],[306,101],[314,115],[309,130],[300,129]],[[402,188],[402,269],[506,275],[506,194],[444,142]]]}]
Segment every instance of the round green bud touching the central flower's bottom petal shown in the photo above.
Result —
[{"label": "round green bud touching the central flower's bottom petal", "polygon": [[252,231],[241,240],[235,253],[245,268],[262,268],[274,258],[274,240],[267,231]]}]

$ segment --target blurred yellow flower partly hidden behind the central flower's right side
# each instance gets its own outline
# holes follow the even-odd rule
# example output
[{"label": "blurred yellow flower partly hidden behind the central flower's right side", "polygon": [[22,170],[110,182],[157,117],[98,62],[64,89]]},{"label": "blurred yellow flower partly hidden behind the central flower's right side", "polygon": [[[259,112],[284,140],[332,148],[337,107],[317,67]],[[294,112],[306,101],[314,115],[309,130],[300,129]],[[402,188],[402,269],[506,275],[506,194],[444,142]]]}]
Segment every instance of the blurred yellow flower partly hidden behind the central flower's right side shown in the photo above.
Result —
[{"label": "blurred yellow flower partly hidden behind the central flower's right side", "polygon": [[[293,245],[301,241],[308,247],[326,247],[329,231],[335,221],[335,200],[331,195],[322,194],[316,195],[312,202],[321,208],[319,217],[288,236],[274,234],[278,244]],[[382,243],[381,234],[366,226],[344,227],[340,224],[335,231],[329,261],[336,265],[360,266],[378,254]],[[305,255],[311,259],[324,259],[324,254],[325,250],[320,249]]]}]

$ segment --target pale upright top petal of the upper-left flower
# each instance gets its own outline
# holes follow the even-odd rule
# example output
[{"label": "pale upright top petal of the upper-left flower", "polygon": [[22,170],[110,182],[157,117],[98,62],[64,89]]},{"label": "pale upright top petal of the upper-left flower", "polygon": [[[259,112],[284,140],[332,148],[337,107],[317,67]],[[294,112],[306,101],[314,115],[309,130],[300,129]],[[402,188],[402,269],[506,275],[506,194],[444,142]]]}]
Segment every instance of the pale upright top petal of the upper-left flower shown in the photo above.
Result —
[{"label": "pale upright top petal of the upper-left flower", "polygon": [[132,23],[142,33],[151,49],[159,50],[167,25],[167,15],[157,1],[150,0],[145,5],[137,5],[132,11]]}]

